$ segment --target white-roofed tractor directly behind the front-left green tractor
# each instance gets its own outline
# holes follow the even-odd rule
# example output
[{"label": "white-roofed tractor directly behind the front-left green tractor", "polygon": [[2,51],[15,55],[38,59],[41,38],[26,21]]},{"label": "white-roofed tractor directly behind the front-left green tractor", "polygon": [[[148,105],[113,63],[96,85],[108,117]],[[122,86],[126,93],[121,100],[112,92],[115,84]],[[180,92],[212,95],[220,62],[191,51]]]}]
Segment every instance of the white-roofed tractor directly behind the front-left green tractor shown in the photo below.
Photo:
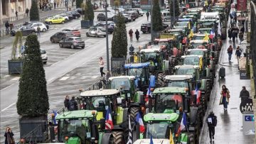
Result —
[{"label": "white-roofed tractor directly behind the front-left green tractor", "polygon": [[112,143],[126,143],[128,136],[128,108],[126,97],[121,94],[119,89],[98,89],[84,91],[77,98],[81,109],[97,111],[96,120],[105,119],[107,110],[110,110],[114,128],[110,131],[109,136],[104,137],[104,141]]}]

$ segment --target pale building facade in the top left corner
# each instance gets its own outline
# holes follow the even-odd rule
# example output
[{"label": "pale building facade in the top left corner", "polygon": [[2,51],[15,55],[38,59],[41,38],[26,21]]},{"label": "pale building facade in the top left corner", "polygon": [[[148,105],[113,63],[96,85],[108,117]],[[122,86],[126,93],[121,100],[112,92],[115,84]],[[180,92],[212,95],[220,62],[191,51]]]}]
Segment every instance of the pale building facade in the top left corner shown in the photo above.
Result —
[{"label": "pale building facade in the top left corner", "polygon": [[31,0],[0,0],[0,24],[11,21],[18,16],[24,15],[26,9],[31,8]]}]

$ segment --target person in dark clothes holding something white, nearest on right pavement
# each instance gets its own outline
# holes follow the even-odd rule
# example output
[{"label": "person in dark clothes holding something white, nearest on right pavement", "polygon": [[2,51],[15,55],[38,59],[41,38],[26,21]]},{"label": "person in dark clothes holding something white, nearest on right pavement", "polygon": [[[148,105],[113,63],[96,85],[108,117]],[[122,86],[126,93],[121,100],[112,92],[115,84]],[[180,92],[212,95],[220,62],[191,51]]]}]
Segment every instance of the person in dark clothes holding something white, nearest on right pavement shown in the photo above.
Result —
[{"label": "person in dark clothes holding something white, nearest on right pavement", "polygon": [[214,140],[215,126],[217,126],[217,116],[214,115],[213,111],[210,111],[210,114],[206,118],[206,123],[208,125],[210,143]]}]

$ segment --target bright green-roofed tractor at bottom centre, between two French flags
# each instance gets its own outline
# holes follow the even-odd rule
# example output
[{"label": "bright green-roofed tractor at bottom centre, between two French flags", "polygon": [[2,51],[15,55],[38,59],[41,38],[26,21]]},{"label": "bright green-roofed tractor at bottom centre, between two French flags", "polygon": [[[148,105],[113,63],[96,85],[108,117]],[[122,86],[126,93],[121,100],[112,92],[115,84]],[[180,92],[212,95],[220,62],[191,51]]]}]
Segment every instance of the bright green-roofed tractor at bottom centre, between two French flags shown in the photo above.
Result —
[{"label": "bright green-roofed tractor at bottom centre, between two French flags", "polygon": [[[174,143],[194,143],[193,133],[181,131],[176,137],[175,132],[180,125],[178,113],[147,113],[144,116],[146,122],[145,139],[139,139],[134,144],[150,143],[152,136],[154,144],[170,144],[170,135],[174,139]],[[170,133],[171,132],[171,133]]]}]

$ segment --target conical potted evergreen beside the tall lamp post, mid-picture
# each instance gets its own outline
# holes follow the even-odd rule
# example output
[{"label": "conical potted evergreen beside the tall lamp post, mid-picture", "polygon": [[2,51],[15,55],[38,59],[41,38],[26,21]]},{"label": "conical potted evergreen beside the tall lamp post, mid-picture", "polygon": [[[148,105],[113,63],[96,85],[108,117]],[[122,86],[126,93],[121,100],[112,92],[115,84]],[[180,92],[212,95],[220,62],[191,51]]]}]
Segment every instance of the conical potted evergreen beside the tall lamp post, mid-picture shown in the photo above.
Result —
[{"label": "conical potted evergreen beside the tall lamp post, mid-picture", "polygon": [[[127,30],[124,18],[119,13],[117,15],[117,23],[114,28],[113,38],[111,42],[111,70],[112,75],[121,74],[127,57]],[[115,65],[113,65],[115,64]]]}]

